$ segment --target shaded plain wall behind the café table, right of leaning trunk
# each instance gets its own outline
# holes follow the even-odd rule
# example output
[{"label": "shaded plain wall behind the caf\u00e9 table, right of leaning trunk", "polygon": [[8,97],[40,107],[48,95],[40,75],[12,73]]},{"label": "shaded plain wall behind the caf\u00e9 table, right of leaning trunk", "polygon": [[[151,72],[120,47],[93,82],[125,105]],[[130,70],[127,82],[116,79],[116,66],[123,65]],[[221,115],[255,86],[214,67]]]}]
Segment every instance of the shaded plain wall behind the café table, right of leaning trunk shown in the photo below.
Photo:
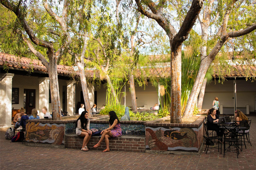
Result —
[{"label": "shaded plain wall behind the caf\u00e9 table, right of leaning trunk", "polygon": [[[251,80],[237,80],[237,107],[249,105],[249,112],[254,112],[254,95],[256,95],[256,82]],[[234,107],[234,80],[227,80],[223,84],[211,82],[206,85],[203,98],[203,109],[212,108],[214,97],[219,98],[223,107]]]}]

